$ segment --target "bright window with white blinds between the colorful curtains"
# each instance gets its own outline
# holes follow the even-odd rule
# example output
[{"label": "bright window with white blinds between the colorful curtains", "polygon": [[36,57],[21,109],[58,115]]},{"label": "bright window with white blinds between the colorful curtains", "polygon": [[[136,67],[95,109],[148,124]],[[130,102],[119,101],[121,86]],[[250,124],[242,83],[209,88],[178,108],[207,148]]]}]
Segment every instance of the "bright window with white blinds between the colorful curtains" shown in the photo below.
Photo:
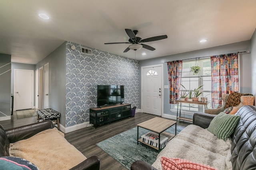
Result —
[{"label": "bright window with white blinds between the colorful curtains", "polygon": [[[190,72],[191,66],[200,66],[200,72],[198,74],[193,74],[193,72]],[[189,61],[183,61],[182,62],[182,78],[181,78],[181,84],[186,88],[184,89],[182,86],[180,88],[180,91],[185,92],[186,90],[192,90],[192,93],[194,92],[195,88],[198,88],[201,85],[204,85],[202,87],[202,94],[200,97],[207,97],[208,98],[208,108],[212,107],[212,78],[211,78],[211,61],[210,58],[208,59],[200,59],[200,60],[189,60]],[[182,111],[204,111],[204,106],[197,105],[197,104],[186,104],[182,103],[181,105]],[[177,105],[173,105],[173,109],[177,109]]]}]

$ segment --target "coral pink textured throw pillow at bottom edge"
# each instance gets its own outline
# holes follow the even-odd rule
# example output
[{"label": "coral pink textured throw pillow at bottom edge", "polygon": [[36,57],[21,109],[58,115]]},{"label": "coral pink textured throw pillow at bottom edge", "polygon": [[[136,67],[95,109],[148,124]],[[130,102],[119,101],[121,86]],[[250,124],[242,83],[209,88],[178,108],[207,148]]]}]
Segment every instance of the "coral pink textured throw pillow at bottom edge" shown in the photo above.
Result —
[{"label": "coral pink textured throw pillow at bottom edge", "polygon": [[216,170],[211,166],[194,163],[181,158],[166,158],[162,156],[160,162],[162,164],[162,170]]}]

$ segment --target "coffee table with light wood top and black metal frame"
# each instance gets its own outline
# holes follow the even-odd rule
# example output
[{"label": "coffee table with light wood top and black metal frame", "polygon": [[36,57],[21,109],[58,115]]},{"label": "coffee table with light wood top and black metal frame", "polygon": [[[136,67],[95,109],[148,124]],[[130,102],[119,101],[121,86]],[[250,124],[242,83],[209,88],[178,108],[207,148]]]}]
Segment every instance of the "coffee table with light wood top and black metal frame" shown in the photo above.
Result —
[{"label": "coffee table with light wood top and black metal frame", "polygon": [[[148,145],[149,147],[152,147],[152,148],[160,151],[160,134],[168,137],[168,141],[170,141],[174,136],[176,136],[176,130],[177,130],[176,123],[177,123],[176,121],[164,119],[161,117],[154,117],[152,119],[149,119],[147,121],[139,123],[137,125],[137,145],[139,145],[139,142],[140,142],[140,143],[143,143],[145,145]],[[165,132],[166,129],[169,129],[173,125],[175,125],[175,135],[172,133]],[[158,136],[159,136],[158,147],[153,147],[152,145],[142,142],[141,138],[139,139],[139,127],[143,128],[143,129],[147,129],[147,130],[155,132],[155,133],[158,133]]]}]

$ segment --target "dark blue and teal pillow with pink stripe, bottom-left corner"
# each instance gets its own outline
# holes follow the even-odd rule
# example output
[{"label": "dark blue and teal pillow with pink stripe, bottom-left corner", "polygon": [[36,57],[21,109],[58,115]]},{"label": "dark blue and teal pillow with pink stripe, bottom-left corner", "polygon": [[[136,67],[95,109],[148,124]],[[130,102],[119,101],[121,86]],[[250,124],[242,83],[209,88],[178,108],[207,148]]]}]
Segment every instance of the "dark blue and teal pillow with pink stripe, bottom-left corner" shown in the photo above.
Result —
[{"label": "dark blue and teal pillow with pink stripe, bottom-left corner", "polygon": [[5,170],[38,170],[37,166],[28,160],[13,156],[1,157],[0,165],[4,167]]}]

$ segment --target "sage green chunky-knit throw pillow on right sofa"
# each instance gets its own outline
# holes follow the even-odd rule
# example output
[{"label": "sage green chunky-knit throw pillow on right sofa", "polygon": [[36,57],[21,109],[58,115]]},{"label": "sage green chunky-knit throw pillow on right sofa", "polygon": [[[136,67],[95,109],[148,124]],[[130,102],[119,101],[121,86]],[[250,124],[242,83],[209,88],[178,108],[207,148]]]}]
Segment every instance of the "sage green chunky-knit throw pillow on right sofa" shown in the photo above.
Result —
[{"label": "sage green chunky-knit throw pillow on right sofa", "polygon": [[226,141],[233,133],[239,119],[240,116],[221,112],[212,119],[207,130]]}]

